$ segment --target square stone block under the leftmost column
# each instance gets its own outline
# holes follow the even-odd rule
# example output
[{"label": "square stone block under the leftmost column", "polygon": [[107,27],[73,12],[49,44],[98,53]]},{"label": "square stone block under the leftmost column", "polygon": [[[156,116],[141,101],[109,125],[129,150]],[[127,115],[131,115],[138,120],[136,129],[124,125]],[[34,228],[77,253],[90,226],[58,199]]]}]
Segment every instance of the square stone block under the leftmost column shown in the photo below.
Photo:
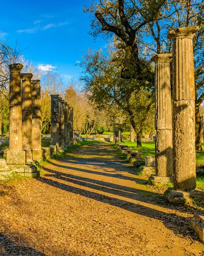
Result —
[{"label": "square stone block under the leftmost column", "polygon": [[24,150],[8,150],[7,164],[9,165],[25,165],[26,151]]}]

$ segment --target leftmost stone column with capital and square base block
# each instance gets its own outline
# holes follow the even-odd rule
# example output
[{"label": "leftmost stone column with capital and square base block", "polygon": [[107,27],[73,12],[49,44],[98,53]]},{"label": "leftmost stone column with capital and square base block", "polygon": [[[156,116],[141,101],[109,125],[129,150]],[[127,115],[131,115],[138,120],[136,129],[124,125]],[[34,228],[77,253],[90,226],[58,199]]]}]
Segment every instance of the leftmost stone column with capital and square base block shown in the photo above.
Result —
[{"label": "leftmost stone column with capital and square base block", "polygon": [[22,150],[22,108],[20,70],[23,65],[11,64],[10,70],[10,116],[8,164],[26,164],[26,152]]}]

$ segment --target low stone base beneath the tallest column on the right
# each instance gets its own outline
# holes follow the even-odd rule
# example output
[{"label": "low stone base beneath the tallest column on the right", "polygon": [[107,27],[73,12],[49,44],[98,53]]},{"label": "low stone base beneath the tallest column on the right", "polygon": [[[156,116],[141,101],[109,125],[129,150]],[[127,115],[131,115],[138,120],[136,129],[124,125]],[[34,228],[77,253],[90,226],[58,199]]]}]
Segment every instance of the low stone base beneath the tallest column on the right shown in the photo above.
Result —
[{"label": "low stone base beneath the tallest column on the right", "polygon": [[193,203],[193,199],[197,198],[204,201],[204,191],[200,189],[195,189],[192,191],[176,191],[176,190],[167,190],[164,193],[167,200],[170,204],[187,204]]}]

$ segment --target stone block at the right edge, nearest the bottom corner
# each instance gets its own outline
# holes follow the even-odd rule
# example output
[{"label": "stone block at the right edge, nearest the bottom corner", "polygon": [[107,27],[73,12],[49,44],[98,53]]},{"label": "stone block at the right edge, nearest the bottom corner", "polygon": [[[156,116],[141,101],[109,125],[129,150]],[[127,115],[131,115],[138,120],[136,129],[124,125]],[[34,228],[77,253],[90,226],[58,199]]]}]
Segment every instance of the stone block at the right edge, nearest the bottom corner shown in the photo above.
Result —
[{"label": "stone block at the right edge, nearest the bottom corner", "polygon": [[204,243],[204,211],[197,211],[190,220],[190,227],[195,231],[200,241]]}]

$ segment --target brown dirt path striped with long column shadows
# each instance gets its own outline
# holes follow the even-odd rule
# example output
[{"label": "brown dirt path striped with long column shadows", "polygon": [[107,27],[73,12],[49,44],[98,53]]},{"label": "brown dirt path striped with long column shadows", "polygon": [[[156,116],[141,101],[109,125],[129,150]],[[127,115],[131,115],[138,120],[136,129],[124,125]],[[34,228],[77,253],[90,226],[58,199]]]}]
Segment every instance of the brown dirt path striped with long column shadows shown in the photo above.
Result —
[{"label": "brown dirt path striped with long column shadows", "polygon": [[0,256],[204,255],[192,214],[147,191],[109,144],[51,162],[0,196]]}]

